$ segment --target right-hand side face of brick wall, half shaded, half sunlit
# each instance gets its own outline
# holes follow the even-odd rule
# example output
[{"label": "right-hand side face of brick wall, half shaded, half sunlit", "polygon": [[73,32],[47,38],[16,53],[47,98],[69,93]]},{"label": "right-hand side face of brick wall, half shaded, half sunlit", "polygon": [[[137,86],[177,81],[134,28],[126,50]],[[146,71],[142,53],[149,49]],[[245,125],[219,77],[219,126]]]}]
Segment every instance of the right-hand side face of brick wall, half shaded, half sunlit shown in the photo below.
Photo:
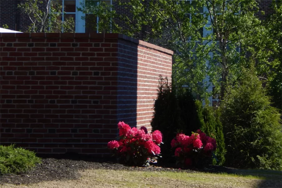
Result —
[{"label": "right-hand side face of brick wall, half shaded, half sunlit", "polygon": [[171,77],[172,59],[171,54],[148,51],[147,44],[144,41],[139,41],[139,45],[127,41],[118,44],[118,99],[121,99],[118,100],[118,120],[138,128],[146,126],[150,131],[159,75]]}]

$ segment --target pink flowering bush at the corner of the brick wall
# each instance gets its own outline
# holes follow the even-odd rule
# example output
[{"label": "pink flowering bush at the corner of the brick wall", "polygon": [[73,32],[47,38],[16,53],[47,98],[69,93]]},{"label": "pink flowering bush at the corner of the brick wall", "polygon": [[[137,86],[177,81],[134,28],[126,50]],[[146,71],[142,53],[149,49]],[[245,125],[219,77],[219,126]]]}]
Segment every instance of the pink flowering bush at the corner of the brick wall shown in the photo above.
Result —
[{"label": "pink flowering bush at the corner of the brick wall", "polygon": [[155,130],[148,133],[147,128],[131,128],[124,122],[118,123],[119,141],[108,143],[108,148],[115,152],[120,162],[135,165],[148,165],[149,162],[157,162],[161,157],[160,147],[162,133]]}]

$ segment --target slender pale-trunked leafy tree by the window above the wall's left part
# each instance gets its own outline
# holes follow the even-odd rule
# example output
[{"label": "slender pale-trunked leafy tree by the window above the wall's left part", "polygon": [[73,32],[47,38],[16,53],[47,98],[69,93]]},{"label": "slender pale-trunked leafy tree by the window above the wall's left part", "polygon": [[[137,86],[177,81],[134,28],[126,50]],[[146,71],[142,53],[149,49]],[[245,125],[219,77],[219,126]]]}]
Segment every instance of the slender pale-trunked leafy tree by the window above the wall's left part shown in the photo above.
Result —
[{"label": "slender pale-trunked leafy tree by the window above the wall's left part", "polygon": [[24,3],[18,4],[18,7],[28,15],[31,21],[26,32],[61,33],[62,30],[70,33],[75,32],[73,18],[61,20],[62,5],[56,0],[25,0]]}]

